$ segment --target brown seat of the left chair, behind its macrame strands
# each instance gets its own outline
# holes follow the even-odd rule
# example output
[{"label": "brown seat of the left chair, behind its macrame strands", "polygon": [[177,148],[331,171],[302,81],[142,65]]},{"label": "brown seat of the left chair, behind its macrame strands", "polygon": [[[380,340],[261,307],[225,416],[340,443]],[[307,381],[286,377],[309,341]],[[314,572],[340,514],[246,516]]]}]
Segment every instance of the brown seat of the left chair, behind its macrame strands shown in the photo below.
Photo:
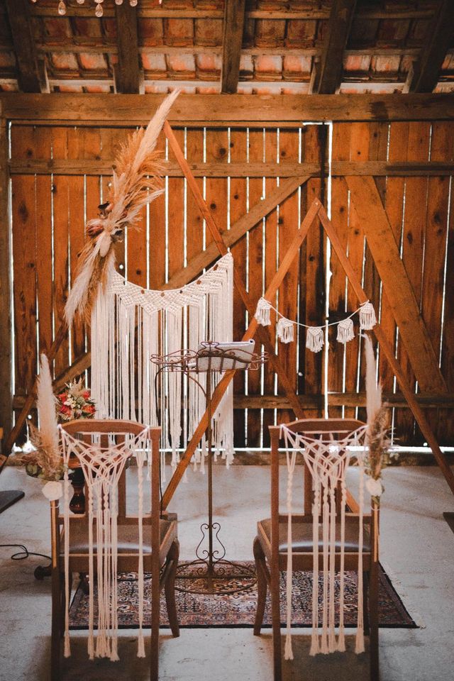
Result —
[{"label": "brown seat of the left chair, behind its macrame strands", "polygon": [[[160,542],[164,541],[165,536],[171,527],[175,526],[175,521],[160,520]],[[61,542],[60,555],[64,555],[64,542]],[[138,553],[138,525],[118,525],[118,553]],[[96,528],[94,528],[94,552],[96,553]],[[72,523],[70,527],[70,553],[89,553],[88,526],[86,523]],[[151,553],[151,527],[143,526],[143,553]]]}]

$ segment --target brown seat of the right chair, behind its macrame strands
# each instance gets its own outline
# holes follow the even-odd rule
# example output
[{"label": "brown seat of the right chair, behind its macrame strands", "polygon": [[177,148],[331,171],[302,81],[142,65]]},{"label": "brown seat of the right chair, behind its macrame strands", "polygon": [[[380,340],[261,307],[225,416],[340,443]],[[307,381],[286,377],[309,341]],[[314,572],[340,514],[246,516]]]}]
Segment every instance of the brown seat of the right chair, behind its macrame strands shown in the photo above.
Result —
[{"label": "brown seat of the right chair, behind its macrame strands", "polygon": [[[279,553],[287,553],[287,519],[279,521]],[[347,516],[345,518],[345,551],[347,553],[358,553],[358,529],[359,519]],[[261,520],[258,523],[258,533],[265,534],[267,541],[271,543],[271,520]],[[292,522],[292,550],[295,553],[312,553],[312,522]],[[319,551],[323,550],[322,527],[319,525]],[[341,550],[341,522],[336,522],[336,551]],[[370,531],[368,521],[364,521],[363,532],[363,551],[370,552]]]}]

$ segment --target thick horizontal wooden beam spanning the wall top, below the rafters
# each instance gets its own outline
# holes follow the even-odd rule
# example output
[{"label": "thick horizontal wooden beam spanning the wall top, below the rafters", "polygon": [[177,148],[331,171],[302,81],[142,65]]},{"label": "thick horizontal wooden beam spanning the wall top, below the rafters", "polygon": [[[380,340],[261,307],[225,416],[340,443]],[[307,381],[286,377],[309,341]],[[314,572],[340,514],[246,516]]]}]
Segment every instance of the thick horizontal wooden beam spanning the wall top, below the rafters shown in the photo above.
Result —
[{"label": "thick horizontal wooden beam spanning the wall top, below the rafters", "polygon": [[[4,117],[11,121],[77,126],[147,125],[165,95],[0,93]],[[454,94],[267,95],[180,94],[172,106],[172,125],[279,128],[301,121],[451,121]]]}]

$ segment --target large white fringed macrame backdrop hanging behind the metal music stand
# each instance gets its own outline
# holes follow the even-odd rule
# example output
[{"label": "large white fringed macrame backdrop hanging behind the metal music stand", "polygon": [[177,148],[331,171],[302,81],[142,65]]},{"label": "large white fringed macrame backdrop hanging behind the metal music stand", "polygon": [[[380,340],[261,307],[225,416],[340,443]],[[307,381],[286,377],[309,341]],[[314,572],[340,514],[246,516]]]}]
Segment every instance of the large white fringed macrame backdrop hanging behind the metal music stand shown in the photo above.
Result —
[{"label": "large white fringed macrame backdrop hanging behind the metal music stand", "polygon": [[[151,355],[182,348],[197,350],[201,341],[231,341],[233,333],[233,258],[230,253],[199,279],[181,289],[153,291],[127,282],[111,267],[92,311],[92,397],[99,419],[131,419],[162,428],[162,449],[186,448],[206,409],[204,394],[181,372],[163,371]],[[206,374],[196,376],[202,387]],[[219,380],[211,375],[213,386]],[[214,451],[233,458],[231,388],[214,414]],[[206,443],[194,455],[204,467]],[[163,458],[165,454],[163,453]],[[162,464],[165,460],[162,460]],[[162,475],[165,467],[161,466]],[[165,478],[164,478],[165,479]]]}]

